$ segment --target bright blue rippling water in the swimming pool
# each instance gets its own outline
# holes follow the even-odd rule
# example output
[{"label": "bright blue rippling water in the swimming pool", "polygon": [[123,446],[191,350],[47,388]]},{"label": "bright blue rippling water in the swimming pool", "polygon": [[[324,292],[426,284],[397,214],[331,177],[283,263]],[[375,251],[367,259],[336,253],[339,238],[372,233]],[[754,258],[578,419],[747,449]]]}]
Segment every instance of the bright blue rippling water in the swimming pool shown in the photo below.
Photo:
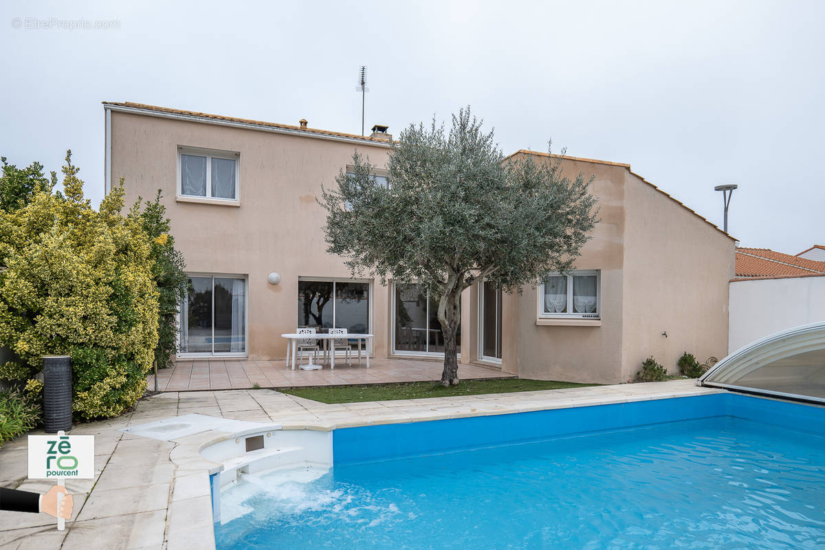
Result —
[{"label": "bright blue rippling water in the swimming pool", "polygon": [[219,550],[825,548],[825,438],[727,416],[336,466],[312,482],[276,472],[222,501],[233,493],[250,511],[215,525]]}]

